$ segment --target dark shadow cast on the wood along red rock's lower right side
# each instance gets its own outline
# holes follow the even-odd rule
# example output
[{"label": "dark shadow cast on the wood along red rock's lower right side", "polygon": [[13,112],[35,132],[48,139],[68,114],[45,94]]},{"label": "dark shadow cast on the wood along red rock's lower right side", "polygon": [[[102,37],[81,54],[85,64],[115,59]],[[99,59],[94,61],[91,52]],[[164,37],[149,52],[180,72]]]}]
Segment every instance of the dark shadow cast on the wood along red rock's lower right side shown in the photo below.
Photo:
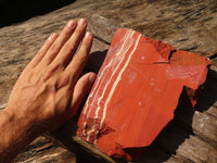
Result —
[{"label": "dark shadow cast on the wood along red rock's lower right side", "polygon": [[[214,79],[215,78],[215,79]],[[214,89],[217,80],[216,72],[209,70],[204,90],[199,99],[196,106],[193,109],[183,89],[174,120],[161,131],[150,147],[143,148],[143,159],[138,163],[158,163],[165,162],[176,154],[176,150],[190,135],[194,135],[192,121],[195,111],[207,111],[217,100],[217,89]],[[129,150],[135,152],[138,149]]]}]

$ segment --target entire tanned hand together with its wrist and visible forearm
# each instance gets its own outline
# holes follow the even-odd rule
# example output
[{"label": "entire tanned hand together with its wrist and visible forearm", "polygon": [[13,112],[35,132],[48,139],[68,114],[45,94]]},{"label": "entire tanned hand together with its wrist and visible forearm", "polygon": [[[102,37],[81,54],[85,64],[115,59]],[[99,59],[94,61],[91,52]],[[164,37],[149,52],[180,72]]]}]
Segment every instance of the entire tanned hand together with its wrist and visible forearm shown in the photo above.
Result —
[{"label": "entire tanned hand together with its wrist and visible forearm", "polygon": [[76,114],[95,79],[94,73],[79,78],[92,46],[86,27],[84,18],[69,21],[60,36],[47,39],[21,74],[0,114],[0,163],[10,162],[37,136]]}]

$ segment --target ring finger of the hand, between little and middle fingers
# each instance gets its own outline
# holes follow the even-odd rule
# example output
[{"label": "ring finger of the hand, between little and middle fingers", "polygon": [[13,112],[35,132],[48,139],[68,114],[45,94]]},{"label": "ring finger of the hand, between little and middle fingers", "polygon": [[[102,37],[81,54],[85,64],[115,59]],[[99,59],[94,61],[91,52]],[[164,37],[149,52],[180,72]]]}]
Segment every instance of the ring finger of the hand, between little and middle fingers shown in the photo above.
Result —
[{"label": "ring finger of the hand, between little and middle fingers", "polygon": [[47,52],[46,57],[42,59],[42,64],[50,64],[58,53],[61,51],[64,43],[71,38],[72,34],[76,28],[77,23],[75,21],[69,21],[66,26],[64,27],[63,32],[55,40],[55,42],[51,46],[49,51]]}]

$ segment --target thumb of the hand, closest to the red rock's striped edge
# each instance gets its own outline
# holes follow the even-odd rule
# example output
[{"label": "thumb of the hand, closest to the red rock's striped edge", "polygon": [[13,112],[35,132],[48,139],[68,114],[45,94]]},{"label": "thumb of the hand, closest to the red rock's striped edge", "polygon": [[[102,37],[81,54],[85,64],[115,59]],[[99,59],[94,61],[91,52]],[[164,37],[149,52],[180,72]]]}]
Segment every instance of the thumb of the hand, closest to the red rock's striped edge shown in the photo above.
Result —
[{"label": "thumb of the hand, closest to the red rock's striped edge", "polygon": [[89,92],[92,84],[95,80],[97,75],[94,73],[88,73],[84,75],[76,84],[73,93],[73,100],[71,104],[71,115],[74,116],[77,112],[85,96]]}]

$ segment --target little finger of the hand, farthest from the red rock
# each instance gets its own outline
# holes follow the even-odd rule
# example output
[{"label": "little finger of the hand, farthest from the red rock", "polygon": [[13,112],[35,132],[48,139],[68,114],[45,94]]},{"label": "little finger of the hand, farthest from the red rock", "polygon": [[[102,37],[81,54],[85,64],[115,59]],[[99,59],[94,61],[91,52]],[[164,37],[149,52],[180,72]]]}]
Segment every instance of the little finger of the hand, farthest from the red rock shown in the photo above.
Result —
[{"label": "little finger of the hand, farthest from the red rock", "polygon": [[35,67],[42,60],[42,58],[46,55],[49,48],[53,45],[53,42],[56,40],[58,37],[59,37],[59,35],[54,33],[46,40],[46,42],[43,43],[41,49],[34,57],[34,59],[30,61],[30,63],[29,63],[30,67]]}]

